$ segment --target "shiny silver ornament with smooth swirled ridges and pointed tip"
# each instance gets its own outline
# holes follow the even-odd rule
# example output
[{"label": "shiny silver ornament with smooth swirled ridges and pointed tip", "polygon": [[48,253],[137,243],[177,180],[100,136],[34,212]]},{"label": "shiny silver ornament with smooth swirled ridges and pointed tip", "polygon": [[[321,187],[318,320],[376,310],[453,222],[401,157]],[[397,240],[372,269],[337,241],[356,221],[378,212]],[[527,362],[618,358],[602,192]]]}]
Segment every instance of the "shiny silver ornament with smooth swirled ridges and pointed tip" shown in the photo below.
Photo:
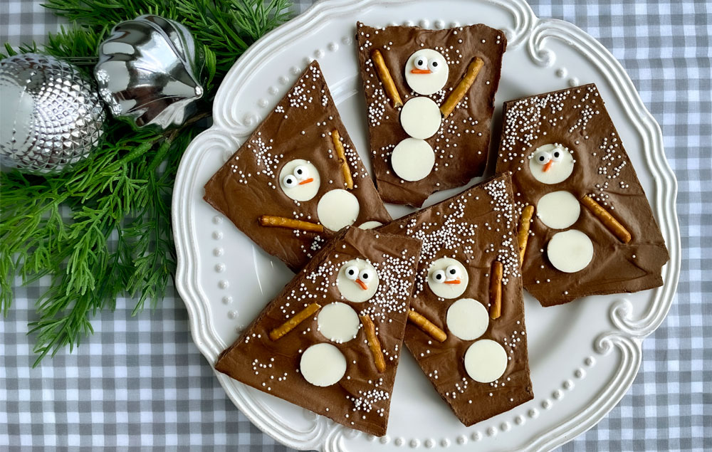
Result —
[{"label": "shiny silver ornament with smooth swirled ridges and pointed tip", "polygon": [[112,114],[136,127],[182,125],[203,95],[204,56],[187,28],[160,16],[118,23],[99,47],[94,75]]}]

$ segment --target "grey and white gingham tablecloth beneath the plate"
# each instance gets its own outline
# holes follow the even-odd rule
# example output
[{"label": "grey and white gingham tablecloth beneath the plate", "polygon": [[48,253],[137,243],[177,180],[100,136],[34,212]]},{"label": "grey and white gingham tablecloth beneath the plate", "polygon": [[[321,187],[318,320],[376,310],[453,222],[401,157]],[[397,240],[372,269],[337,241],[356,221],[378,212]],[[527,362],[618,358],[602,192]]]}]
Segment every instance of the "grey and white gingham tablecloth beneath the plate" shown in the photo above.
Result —
[{"label": "grey and white gingham tablecloth beneath the plate", "polygon": [[[43,42],[58,19],[38,0],[0,0],[0,43]],[[299,1],[298,11],[311,2]],[[626,68],[662,127],[679,182],[683,259],[675,303],[644,342],[626,396],[563,451],[712,450],[712,4],[704,1],[539,1],[539,17],[575,23]],[[625,6],[620,5],[625,3]],[[636,4],[637,3],[637,4]],[[204,448],[288,451],[227,399],[194,346],[174,290],[131,317],[134,300],[93,320],[73,354],[32,369],[33,305],[48,281],[16,286],[0,320],[0,450]],[[706,302],[706,305],[703,304]]]}]

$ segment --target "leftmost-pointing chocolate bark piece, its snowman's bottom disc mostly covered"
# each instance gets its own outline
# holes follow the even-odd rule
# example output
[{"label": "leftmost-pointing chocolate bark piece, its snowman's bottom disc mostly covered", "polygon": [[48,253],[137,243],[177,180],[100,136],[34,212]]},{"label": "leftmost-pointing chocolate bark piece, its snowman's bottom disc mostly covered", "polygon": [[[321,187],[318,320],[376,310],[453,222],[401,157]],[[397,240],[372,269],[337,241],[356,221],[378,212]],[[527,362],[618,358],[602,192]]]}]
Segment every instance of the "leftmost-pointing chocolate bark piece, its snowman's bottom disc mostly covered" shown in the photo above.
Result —
[{"label": "leftmost-pointing chocolate bark piece, its snowman's bottom disc mostly covered", "polygon": [[[343,149],[338,149],[333,131]],[[352,188],[338,157],[340,150]],[[345,224],[383,224],[391,219],[316,61],[205,184],[204,199],[293,271],[303,268]],[[266,224],[289,219],[324,227],[315,232],[298,225],[262,226],[262,216],[272,217]]]}]

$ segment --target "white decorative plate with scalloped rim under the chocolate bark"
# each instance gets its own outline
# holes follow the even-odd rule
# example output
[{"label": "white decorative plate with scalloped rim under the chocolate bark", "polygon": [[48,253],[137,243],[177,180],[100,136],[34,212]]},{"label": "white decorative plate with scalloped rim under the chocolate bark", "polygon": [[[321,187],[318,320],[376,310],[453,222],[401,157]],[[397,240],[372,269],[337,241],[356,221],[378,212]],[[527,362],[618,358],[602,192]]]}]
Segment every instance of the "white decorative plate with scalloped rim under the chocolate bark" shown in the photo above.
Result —
[{"label": "white decorative plate with scalloped rim under the chocolate bark", "polygon": [[[382,438],[334,424],[223,374],[216,377],[256,426],[298,449],[355,452],[449,446],[542,451],[565,443],[590,429],[621,399],[637,373],[642,341],[668,312],[680,270],[677,186],[664,157],[660,127],[621,65],[571,23],[537,19],[523,0],[322,1],[269,33],[235,63],[217,93],[214,125],[188,147],[174,188],[176,283],[195,343],[212,365],[291,277],[282,263],[253,246],[202,200],[203,185],[313,58],[319,60],[357,149],[368,160],[353,44],[357,19],[377,26],[486,23],[501,28],[508,48],[496,98],[497,131],[504,100],[597,83],[669,247],[665,285],[553,308],[541,308],[527,295],[535,398],[469,428],[457,421],[407,355],[393,391],[388,434]],[[493,134],[495,141],[497,136]],[[436,194],[429,204],[456,191]],[[407,209],[391,211],[401,216]]]}]

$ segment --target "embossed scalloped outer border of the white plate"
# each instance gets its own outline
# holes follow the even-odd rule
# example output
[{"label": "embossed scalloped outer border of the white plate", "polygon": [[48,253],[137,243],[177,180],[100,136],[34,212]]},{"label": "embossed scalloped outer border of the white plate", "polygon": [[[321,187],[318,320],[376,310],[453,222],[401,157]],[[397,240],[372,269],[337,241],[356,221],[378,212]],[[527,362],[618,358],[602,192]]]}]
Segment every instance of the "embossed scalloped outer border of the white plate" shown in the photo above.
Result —
[{"label": "embossed scalloped outer border of the white plate", "polygon": [[[545,66],[555,63],[555,53],[545,45],[549,38],[553,38],[575,48],[578,53],[600,68],[600,72],[604,78],[607,78],[614,93],[621,100],[630,122],[644,143],[644,149],[647,151],[645,153],[646,164],[655,179],[653,207],[671,254],[671,261],[664,268],[665,285],[656,290],[653,302],[649,303],[648,309],[641,317],[633,318],[632,305],[624,298],[614,300],[610,306],[609,317],[616,330],[600,335],[595,342],[594,349],[598,354],[609,354],[617,347],[620,356],[619,367],[607,388],[601,392],[595,402],[562,424],[537,438],[526,441],[520,447],[521,450],[541,451],[559,446],[597,424],[618,403],[632,384],[641,362],[642,341],[664,320],[677,287],[681,258],[679,225],[675,210],[677,182],[664,157],[659,125],[646,110],[622,66],[607,49],[571,23],[553,19],[537,19],[523,0],[482,1],[501,7],[513,16],[513,28],[503,30],[509,45],[511,48],[526,45],[528,53],[535,63]],[[308,28],[310,24],[327,20],[333,14],[356,12],[379,3],[382,1],[362,0],[352,3],[347,0],[328,0],[313,5],[297,19],[268,33],[248,49],[245,55],[231,68],[219,89],[217,98],[234,98],[235,93],[232,93],[231,90],[237,90],[237,87],[245,85],[247,80],[243,80],[243,78],[247,76],[246,74],[251,73],[251,69],[258,68],[266,55],[271,51],[276,51],[283,43],[292,41],[300,34],[301,30]],[[415,1],[392,0],[390,3],[407,4],[415,3]],[[423,22],[427,21],[424,19]],[[435,20],[435,26],[439,22],[442,21]],[[259,106],[263,107],[264,105]],[[190,200],[192,196],[190,195],[194,189],[199,188],[195,181],[195,162],[201,158],[201,155],[209,154],[206,149],[216,148],[220,150],[221,154],[231,154],[239,138],[248,135],[257,124],[257,115],[248,114],[244,117],[236,117],[235,110],[232,110],[231,107],[231,103],[228,102],[217,101],[215,103],[215,124],[210,130],[199,135],[188,147],[177,174],[173,198],[173,224],[178,253],[176,284],[187,306],[194,341],[211,364],[221,352],[223,345],[210,326],[209,302],[199,287],[200,269],[197,266],[197,248],[192,240],[194,236],[192,231],[195,230],[195,225],[190,221],[182,220],[194,218],[191,214]],[[587,358],[587,364],[593,365],[594,362],[593,357]],[[576,372],[584,371],[581,369]],[[357,435],[350,429],[337,426],[320,416],[315,416],[313,428],[309,431],[294,431],[286,428],[286,426],[276,423],[263,406],[256,404],[244,387],[235,384],[224,375],[219,375],[219,380],[236,406],[258,428],[290,447],[345,451],[345,440]],[[551,403],[550,399],[544,399],[542,402],[543,406]],[[536,416],[530,414],[529,417],[535,419]],[[504,429],[510,428],[511,426],[507,424]],[[491,429],[493,427],[488,429],[488,434],[496,433],[491,432]],[[476,434],[480,433],[473,433],[473,439]],[[398,439],[403,441],[403,438]],[[461,437],[456,438],[456,441],[462,443]],[[431,439],[425,442],[425,446],[434,446]],[[420,442],[417,438],[409,440],[409,446],[417,447],[419,445]]]}]

